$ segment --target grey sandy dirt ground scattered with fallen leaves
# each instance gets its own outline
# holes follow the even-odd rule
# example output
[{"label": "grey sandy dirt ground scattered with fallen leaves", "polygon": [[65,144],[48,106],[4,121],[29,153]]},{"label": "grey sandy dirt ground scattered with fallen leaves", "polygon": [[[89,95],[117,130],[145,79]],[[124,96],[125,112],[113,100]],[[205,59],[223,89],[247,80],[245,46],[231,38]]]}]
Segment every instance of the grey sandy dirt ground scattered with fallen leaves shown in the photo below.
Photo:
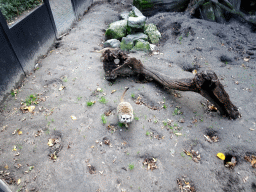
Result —
[{"label": "grey sandy dirt ground scattered with fallen leaves", "polygon": [[[196,93],[104,79],[101,54],[91,51],[101,49],[120,6],[92,6],[2,104],[0,178],[12,191],[256,191],[256,168],[244,159],[256,155],[255,32],[235,19],[159,13],[147,21],[162,33],[159,54],[130,54],[173,77],[214,70],[242,114],[229,120]],[[125,87],[135,115],[128,129],[116,116]],[[23,113],[30,95],[38,104]],[[236,165],[225,167],[219,152]]]}]

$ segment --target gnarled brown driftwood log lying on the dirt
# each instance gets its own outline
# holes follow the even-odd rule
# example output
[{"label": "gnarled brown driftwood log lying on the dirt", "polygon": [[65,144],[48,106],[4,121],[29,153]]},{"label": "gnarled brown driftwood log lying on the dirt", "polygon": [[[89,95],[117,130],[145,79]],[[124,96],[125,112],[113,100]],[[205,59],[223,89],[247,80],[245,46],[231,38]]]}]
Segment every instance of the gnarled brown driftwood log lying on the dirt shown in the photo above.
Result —
[{"label": "gnarled brown driftwood log lying on the dirt", "polygon": [[144,66],[140,60],[129,57],[124,52],[109,49],[103,52],[103,68],[106,80],[115,80],[118,76],[144,76],[147,80],[154,80],[165,88],[199,93],[212,102],[221,115],[230,119],[241,116],[217,75],[211,70],[197,73],[194,78],[172,79]]}]

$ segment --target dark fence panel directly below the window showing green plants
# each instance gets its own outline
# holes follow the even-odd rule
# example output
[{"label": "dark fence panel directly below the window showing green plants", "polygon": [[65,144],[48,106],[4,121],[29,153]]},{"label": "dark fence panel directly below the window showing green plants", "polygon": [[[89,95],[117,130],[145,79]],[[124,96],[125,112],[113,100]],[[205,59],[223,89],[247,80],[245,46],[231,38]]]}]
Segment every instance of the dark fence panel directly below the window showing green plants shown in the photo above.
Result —
[{"label": "dark fence panel directly below the window showing green plants", "polygon": [[45,4],[10,28],[13,48],[23,69],[31,71],[38,56],[45,54],[55,40],[54,28]]}]

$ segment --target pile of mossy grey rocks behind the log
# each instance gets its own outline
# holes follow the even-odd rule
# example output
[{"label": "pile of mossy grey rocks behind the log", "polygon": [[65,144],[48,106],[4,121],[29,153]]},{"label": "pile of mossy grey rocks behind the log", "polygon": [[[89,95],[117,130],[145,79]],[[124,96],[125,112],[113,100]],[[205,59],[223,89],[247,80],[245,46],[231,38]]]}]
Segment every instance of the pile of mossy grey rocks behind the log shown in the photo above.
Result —
[{"label": "pile of mossy grey rocks behind the log", "polygon": [[147,52],[159,42],[161,33],[154,24],[146,24],[147,18],[136,7],[120,16],[122,20],[111,23],[106,30],[104,47]]}]

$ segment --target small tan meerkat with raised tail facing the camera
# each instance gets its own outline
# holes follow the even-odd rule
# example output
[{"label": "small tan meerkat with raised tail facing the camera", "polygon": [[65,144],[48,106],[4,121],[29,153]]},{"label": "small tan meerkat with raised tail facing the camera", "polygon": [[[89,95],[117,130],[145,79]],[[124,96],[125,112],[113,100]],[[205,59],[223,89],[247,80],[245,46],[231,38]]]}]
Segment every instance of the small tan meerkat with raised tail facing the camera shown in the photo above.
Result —
[{"label": "small tan meerkat with raised tail facing the camera", "polygon": [[124,123],[125,127],[128,127],[128,123],[133,121],[133,108],[129,102],[124,101],[124,95],[128,89],[129,87],[125,88],[120,103],[117,106],[118,120],[120,123]]}]

